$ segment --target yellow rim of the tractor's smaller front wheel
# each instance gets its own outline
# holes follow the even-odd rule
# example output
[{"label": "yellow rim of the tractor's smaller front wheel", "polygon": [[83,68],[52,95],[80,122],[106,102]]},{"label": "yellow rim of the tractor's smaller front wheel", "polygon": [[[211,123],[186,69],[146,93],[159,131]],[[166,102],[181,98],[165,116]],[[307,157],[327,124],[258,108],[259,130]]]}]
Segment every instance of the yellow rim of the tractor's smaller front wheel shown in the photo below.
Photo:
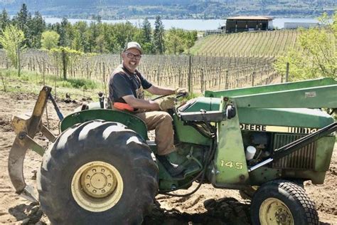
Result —
[{"label": "yellow rim of the tractor's smaller front wheel", "polygon": [[259,216],[262,225],[294,225],[294,218],[288,206],[279,199],[265,199],[260,206]]}]

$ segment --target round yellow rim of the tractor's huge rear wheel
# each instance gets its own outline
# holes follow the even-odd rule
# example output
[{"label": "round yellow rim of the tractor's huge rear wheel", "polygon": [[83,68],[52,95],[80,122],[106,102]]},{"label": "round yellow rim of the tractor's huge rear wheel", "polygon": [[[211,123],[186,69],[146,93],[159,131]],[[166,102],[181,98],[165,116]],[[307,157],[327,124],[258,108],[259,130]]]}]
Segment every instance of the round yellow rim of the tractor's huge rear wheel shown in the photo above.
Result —
[{"label": "round yellow rim of the tractor's huge rear wheel", "polygon": [[71,192],[83,209],[106,211],[122,197],[123,179],[112,164],[88,162],[75,172]]}]

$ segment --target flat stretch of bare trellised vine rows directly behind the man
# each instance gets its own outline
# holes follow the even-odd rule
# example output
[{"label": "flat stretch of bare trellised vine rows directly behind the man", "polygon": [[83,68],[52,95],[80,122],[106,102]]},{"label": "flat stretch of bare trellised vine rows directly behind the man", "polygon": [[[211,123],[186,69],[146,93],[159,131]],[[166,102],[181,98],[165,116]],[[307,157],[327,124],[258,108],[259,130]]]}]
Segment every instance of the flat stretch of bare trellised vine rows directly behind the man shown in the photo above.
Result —
[{"label": "flat stretch of bare trellised vine rows directly behind the man", "polygon": [[[63,78],[63,68],[45,51],[23,53],[21,68],[31,70],[44,80],[48,75]],[[107,93],[109,74],[118,66],[119,55],[74,56],[67,65],[68,78],[97,80]],[[195,93],[204,90],[240,88],[271,83],[279,78],[272,56],[144,56],[139,70],[157,85],[188,87]],[[0,68],[10,62],[0,52]],[[40,80],[41,80],[40,79]],[[49,84],[50,85],[50,84]]]}]

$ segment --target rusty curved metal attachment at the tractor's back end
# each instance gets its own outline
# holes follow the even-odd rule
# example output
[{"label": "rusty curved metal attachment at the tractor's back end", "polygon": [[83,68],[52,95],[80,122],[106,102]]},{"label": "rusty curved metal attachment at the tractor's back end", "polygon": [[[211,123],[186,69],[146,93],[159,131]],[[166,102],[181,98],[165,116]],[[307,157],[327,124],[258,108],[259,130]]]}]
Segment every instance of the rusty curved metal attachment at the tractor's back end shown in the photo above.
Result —
[{"label": "rusty curved metal attachment at the tractor's back end", "polygon": [[41,124],[41,118],[46,108],[50,91],[50,87],[45,86],[42,88],[30,117],[21,115],[15,116],[12,120],[16,138],[9,152],[9,177],[16,189],[16,193],[33,202],[38,202],[38,200],[34,196],[33,188],[26,185],[23,177],[23,160],[28,149],[37,152],[41,156],[43,155],[45,149],[33,140],[37,132],[41,131],[48,140],[55,141],[55,136]]}]

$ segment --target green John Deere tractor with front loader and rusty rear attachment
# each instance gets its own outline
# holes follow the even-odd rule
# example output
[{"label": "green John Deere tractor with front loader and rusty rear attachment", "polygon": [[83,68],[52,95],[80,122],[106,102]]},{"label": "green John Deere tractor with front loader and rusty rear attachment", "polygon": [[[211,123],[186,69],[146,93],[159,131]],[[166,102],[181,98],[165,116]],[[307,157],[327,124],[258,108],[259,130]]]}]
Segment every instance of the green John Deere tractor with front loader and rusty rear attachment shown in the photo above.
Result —
[{"label": "green John Deere tractor with front loader and rusty rear attachment", "polygon": [[[193,182],[188,194],[201,184],[240,190],[252,201],[252,224],[319,223],[303,183],[323,184],[331,161],[337,124],[321,108],[337,108],[336,80],[205,91],[173,109],[177,151],[169,158],[185,168],[176,177],[156,160],[138,117],[107,108],[102,96],[63,117],[50,91],[43,87],[31,117],[13,119],[9,176],[52,224],[141,224],[156,194]],[[58,137],[41,122],[48,99],[60,117]],[[33,140],[37,132],[48,150]],[[38,197],[23,177],[28,149],[43,156]]]}]

